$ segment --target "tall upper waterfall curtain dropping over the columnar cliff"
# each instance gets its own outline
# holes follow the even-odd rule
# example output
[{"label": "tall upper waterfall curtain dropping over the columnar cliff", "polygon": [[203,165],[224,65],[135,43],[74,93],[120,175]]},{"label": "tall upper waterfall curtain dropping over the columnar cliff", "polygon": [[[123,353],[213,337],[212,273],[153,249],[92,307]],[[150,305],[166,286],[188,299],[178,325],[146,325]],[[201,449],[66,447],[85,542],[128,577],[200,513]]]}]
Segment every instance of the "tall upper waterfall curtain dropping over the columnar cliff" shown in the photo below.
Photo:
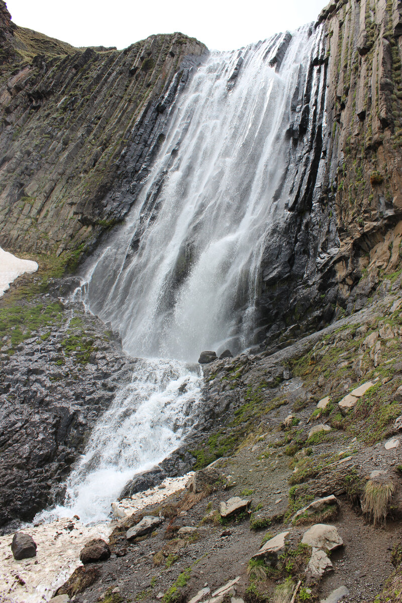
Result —
[{"label": "tall upper waterfall curtain dropping over the columnar cliff", "polygon": [[[175,103],[130,218],[84,287],[130,355],[196,361],[253,343],[262,253],[286,213],[277,191],[293,95],[319,37],[310,34],[212,52]],[[286,45],[277,72],[272,57]]]}]

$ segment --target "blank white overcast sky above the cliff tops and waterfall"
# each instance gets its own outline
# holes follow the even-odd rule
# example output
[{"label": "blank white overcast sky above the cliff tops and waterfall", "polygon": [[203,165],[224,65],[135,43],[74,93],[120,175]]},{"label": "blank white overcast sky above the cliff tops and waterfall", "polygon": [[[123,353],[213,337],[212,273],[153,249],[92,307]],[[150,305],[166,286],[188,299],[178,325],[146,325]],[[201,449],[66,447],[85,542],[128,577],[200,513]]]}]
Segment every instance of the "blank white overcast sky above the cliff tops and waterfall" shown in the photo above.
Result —
[{"label": "blank white overcast sky above the cliff tops and waterfall", "polygon": [[6,0],[14,23],[74,46],[125,48],[181,31],[233,50],[315,21],[328,0]]}]

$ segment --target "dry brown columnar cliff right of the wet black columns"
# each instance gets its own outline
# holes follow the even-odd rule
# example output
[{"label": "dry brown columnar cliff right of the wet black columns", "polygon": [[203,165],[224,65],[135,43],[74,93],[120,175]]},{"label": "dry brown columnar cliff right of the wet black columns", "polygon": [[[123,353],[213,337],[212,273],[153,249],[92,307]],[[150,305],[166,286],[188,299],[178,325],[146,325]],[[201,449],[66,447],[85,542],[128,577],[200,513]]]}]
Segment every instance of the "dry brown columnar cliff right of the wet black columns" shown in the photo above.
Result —
[{"label": "dry brown columnar cliff right of the wet black columns", "polygon": [[327,114],[332,124],[342,291],[366,267],[395,270],[402,227],[402,3],[331,2],[327,29]]}]

